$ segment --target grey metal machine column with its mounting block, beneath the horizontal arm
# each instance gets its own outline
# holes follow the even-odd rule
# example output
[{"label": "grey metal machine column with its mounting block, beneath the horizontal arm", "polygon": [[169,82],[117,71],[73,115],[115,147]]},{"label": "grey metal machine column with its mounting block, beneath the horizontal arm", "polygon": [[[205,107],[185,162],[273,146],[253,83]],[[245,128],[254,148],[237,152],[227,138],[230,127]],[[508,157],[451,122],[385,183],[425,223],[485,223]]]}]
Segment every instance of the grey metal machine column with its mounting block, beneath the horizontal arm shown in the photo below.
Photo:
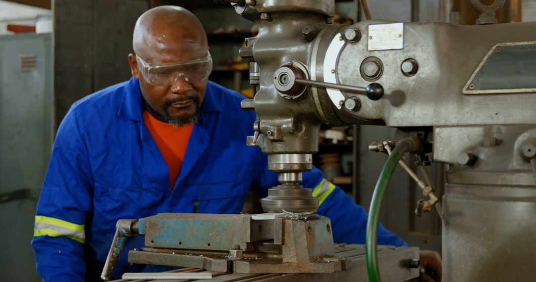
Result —
[{"label": "grey metal machine column with its mounting block, beneath the horizontal arm", "polygon": [[[536,126],[437,127],[434,159],[453,163],[443,197],[449,281],[527,280],[536,267],[536,182],[523,145]],[[456,152],[474,155],[471,166]]]}]

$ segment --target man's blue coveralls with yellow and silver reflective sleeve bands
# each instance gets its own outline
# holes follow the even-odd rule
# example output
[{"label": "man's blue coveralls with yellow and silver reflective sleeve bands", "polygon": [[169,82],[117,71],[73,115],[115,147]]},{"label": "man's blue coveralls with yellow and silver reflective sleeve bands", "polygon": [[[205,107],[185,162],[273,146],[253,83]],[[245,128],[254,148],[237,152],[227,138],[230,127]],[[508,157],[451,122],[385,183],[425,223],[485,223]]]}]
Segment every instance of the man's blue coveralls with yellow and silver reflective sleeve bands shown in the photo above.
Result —
[{"label": "man's blue coveralls with yellow and silver reflective sleeve bands", "polygon": [[[58,129],[35,217],[32,246],[43,281],[95,281],[120,218],[158,213],[237,214],[249,190],[266,197],[278,185],[267,156],[246,146],[256,116],[243,111],[239,93],[209,82],[180,174],[170,191],[169,171],[142,117],[139,81],[132,78],[77,101]],[[367,214],[314,168],[303,175],[331,219],[336,242],[363,243]],[[379,228],[378,244],[405,245]],[[143,246],[127,240],[125,250]],[[129,265],[128,252],[113,278],[124,272],[167,270]]]}]

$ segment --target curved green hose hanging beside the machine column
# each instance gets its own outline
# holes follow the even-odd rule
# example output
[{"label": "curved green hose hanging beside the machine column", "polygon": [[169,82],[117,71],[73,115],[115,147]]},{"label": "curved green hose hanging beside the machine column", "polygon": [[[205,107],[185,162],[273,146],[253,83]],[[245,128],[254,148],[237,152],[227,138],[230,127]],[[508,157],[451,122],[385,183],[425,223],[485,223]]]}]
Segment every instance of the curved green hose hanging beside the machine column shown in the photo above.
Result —
[{"label": "curved green hose hanging beside the machine column", "polygon": [[369,275],[370,282],[381,281],[379,278],[379,268],[378,268],[378,222],[379,222],[379,213],[382,209],[382,202],[385,196],[385,190],[389,185],[391,176],[394,173],[394,168],[397,167],[398,161],[404,156],[404,154],[410,151],[412,146],[412,140],[404,139],[401,140],[396,147],[394,147],[393,152],[389,155],[389,158],[383,166],[382,173],[379,175],[378,182],[374,188],[374,194],[372,195],[372,200],[370,201],[370,210],[368,214],[367,221],[367,271]]}]

